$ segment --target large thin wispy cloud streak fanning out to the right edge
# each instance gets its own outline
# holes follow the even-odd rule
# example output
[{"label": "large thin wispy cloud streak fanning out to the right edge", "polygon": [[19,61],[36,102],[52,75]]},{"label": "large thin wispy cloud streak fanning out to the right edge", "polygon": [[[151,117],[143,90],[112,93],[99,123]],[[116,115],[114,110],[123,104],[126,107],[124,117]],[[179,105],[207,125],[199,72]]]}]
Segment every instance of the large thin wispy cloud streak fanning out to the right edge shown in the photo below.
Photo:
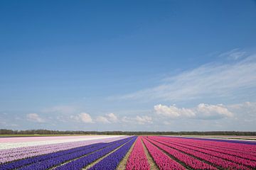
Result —
[{"label": "large thin wispy cloud streak fanning out to the right edge", "polygon": [[242,98],[252,95],[251,89],[256,86],[255,72],[256,55],[251,55],[235,63],[205,64],[166,78],[159,86],[117,98],[171,102],[233,96]]}]

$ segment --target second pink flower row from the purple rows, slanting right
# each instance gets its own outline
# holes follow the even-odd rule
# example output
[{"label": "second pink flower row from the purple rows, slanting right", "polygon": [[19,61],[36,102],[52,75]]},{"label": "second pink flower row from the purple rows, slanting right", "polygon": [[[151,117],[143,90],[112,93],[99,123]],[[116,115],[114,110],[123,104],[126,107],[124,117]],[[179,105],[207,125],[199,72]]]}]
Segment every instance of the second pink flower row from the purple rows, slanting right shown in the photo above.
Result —
[{"label": "second pink flower row from the purple rows, slanting right", "polygon": [[160,170],[185,170],[185,168],[181,166],[181,164],[178,164],[178,162],[174,161],[174,159],[171,159],[166,154],[161,152],[160,149],[152,145],[145,138],[143,138],[143,142],[146,148],[149,150],[149,154],[151,155],[151,157],[153,157],[154,162],[156,162],[156,165],[159,167]]}]

